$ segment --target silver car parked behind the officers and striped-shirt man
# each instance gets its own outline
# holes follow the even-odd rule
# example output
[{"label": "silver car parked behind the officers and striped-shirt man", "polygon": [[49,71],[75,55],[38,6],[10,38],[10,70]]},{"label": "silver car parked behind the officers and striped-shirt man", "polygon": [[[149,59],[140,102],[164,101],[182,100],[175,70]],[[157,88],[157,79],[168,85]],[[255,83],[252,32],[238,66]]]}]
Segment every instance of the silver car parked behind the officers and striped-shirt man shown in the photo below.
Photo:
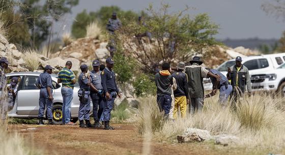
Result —
[{"label": "silver car parked behind the officers and striped-shirt man", "polygon": [[[18,92],[13,109],[8,113],[9,117],[14,118],[37,118],[39,112],[39,98],[40,89],[35,85],[39,75],[39,72],[17,72],[6,74],[7,82],[10,83],[12,77],[18,77]],[[57,83],[58,75],[51,74],[52,79],[52,95],[53,95],[53,107],[52,116],[53,122],[60,124],[62,122],[62,105],[63,98],[61,94],[62,84]],[[78,108],[79,98],[77,92],[79,90],[78,83],[75,84],[73,89],[73,100],[71,103],[71,121],[76,122],[78,120]],[[92,109],[92,103],[91,103]],[[92,113],[92,110],[90,111]],[[46,110],[44,112],[46,116]]]}]

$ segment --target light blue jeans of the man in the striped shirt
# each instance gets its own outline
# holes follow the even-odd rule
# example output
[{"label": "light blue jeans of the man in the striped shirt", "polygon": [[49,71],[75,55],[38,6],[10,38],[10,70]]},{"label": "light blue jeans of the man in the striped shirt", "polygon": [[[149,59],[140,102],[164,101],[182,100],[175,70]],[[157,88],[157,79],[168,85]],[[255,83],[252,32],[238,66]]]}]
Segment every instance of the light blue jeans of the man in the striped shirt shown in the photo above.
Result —
[{"label": "light blue jeans of the man in the striped shirt", "polygon": [[71,119],[70,107],[71,107],[71,102],[73,99],[73,89],[63,86],[62,87],[62,97],[63,97],[62,121],[65,124],[65,123],[70,122],[70,119]]}]

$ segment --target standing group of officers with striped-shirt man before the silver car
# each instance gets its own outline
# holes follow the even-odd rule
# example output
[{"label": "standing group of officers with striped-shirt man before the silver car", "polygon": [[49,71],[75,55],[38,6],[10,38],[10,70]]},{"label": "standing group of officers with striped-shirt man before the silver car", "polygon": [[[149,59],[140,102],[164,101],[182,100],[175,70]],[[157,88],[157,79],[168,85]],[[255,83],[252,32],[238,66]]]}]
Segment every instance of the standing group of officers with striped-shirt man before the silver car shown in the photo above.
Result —
[{"label": "standing group of officers with striped-shirt man before the silver car", "polygon": [[[81,65],[81,73],[78,77],[80,89],[78,90],[78,97],[80,101],[78,110],[78,119],[80,128],[100,128],[102,125],[100,121],[104,122],[105,130],[113,130],[109,125],[111,110],[116,97],[121,98],[119,89],[116,84],[116,75],[112,68],[114,61],[112,58],[106,59],[106,66],[100,65],[99,60],[94,60],[92,63],[93,70],[88,72],[87,65]],[[59,72],[58,83],[62,83],[62,97],[63,97],[63,125],[74,125],[71,122],[71,103],[73,99],[73,88],[76,83],[74,73],[71,71],[72,62],[67,61],[65,68]],[[47,65],[44,73],[41,73],[38,79],[38,87],[40,90],[39,99],[39,125],[43,125],[43,113],[45,107],[47,108],[48,124],[53,125],[52,122],[52,81],[50,74],[52,67]],[[94,124],[90,122],[91,100],[93,103],[93,117]]]}]

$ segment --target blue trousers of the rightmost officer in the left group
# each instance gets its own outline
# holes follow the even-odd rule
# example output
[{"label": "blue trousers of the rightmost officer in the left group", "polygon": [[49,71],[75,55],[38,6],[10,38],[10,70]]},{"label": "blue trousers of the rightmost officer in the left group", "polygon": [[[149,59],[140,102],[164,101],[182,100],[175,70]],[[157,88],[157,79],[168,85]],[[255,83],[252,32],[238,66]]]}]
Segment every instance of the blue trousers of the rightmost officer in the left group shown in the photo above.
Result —
[{"label": "blue trousers of the rightmost officer in the left group", "polygon": [[115,102],[115,98],[113,98],[113,94],[116,94],[116,92],[111,92],[110,93],[110,99],[106,100],[105,103],[105,108],[103,110],[103,113],[101,115],[100,121],[109,121],[111,119],[111,110],[113,109],[113,105]]}]

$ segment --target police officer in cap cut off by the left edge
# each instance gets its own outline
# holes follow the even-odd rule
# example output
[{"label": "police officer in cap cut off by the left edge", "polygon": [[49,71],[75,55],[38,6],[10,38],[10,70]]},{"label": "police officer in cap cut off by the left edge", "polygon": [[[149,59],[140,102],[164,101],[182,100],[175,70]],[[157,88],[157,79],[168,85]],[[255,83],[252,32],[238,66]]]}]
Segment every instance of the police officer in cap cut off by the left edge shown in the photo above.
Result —
[{"label": "police officer in cap cut off by the left edge", "polygon": [[6,88],[6,76],[4,70],[8,68],[9,61],[6,57],[0,59],[0,97],[4,98],[4,89]]}]

